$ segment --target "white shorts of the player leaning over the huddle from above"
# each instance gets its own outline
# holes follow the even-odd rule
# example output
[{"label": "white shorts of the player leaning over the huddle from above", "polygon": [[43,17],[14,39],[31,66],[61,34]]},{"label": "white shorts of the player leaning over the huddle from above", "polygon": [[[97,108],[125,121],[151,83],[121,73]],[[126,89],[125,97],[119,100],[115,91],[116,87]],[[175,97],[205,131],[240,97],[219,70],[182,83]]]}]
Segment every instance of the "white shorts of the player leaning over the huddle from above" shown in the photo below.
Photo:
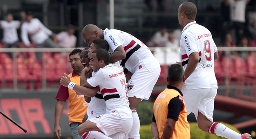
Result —
[{"label": "white shorts of the player leaning over the huddle from above", "polygon": [[127,82],[127,93],[129,97],[149,100],[154,86],[159,78],[161,69],[156,65],[154,70],[142,68],[135,71],[131,79]]}]

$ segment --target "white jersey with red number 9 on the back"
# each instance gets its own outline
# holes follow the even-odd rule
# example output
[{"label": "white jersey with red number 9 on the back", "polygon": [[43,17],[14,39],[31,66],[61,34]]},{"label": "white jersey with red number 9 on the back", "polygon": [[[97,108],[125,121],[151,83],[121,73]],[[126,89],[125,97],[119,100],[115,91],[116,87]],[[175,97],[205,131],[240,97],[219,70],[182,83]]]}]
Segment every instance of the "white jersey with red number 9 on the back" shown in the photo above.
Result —
[{"label": "white jersey with red number 9 on the back", "polygon": [[217,47],[208,29],[195,21],[187,24],[182,31],[180,51],[184,71],[191,53],[198,52],[200,57],[195,71],[185,80],[183,88],[218,88],[214,73],[214,53]]}]

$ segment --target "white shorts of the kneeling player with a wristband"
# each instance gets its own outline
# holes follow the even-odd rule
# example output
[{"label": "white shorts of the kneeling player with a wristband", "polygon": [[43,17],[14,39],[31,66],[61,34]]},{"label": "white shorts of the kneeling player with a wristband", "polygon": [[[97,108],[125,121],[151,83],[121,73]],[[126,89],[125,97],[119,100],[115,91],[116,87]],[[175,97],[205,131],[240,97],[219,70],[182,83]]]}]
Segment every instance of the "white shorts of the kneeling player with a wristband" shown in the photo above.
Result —
[{"label": "white shorts of the kneeling player with a wristband", "polygon": [[90,121],[96,123],[106,136],[114,136],[115,139],[123,139],[131,131],[133,123],[132,118],[121,118],[117,112],[100,115]]}]

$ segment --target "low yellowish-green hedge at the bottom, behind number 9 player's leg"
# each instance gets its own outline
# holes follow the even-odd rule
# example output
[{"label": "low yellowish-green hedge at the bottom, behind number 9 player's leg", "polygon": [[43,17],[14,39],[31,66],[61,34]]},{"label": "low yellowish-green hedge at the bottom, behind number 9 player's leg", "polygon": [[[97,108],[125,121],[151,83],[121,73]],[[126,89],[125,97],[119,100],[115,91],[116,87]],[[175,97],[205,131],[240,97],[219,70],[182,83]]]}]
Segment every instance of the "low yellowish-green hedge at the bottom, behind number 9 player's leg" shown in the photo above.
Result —
[{"label": "low yellowish-green hedge at the bottom, behind number 9 player's leg", "polygon": [[[223,122],[221,122],[223,123]],[[230,124],[223,123],[225,124],[228,128],[240,133],[235,127],[233,127]],[[140,126],[140,139],[152,139],[152,134],[151,134],[151,124],[149,125],[141,125]],[[225,139],[224,137],[219,137],[215,136],[213,134],[209,134],[208,132],[201,131],[197,127],[196,122],[191,122],[190,123],[190,138],[191,139]]]}]

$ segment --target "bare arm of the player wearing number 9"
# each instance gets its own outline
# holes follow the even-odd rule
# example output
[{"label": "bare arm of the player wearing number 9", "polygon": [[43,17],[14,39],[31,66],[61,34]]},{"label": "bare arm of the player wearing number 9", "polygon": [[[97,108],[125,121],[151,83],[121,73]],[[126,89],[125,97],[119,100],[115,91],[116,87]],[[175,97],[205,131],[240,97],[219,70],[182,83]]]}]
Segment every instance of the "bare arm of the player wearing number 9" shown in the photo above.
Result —
[{"label": "bare arm of the player wearing number 9", "polygon": [[193,52],[189,55],[189,62],[187,65],[186,70],[184,71],[185,79],[189,78],[191,73],[195,70],[199,61],[199,54],[198,52]]}]

